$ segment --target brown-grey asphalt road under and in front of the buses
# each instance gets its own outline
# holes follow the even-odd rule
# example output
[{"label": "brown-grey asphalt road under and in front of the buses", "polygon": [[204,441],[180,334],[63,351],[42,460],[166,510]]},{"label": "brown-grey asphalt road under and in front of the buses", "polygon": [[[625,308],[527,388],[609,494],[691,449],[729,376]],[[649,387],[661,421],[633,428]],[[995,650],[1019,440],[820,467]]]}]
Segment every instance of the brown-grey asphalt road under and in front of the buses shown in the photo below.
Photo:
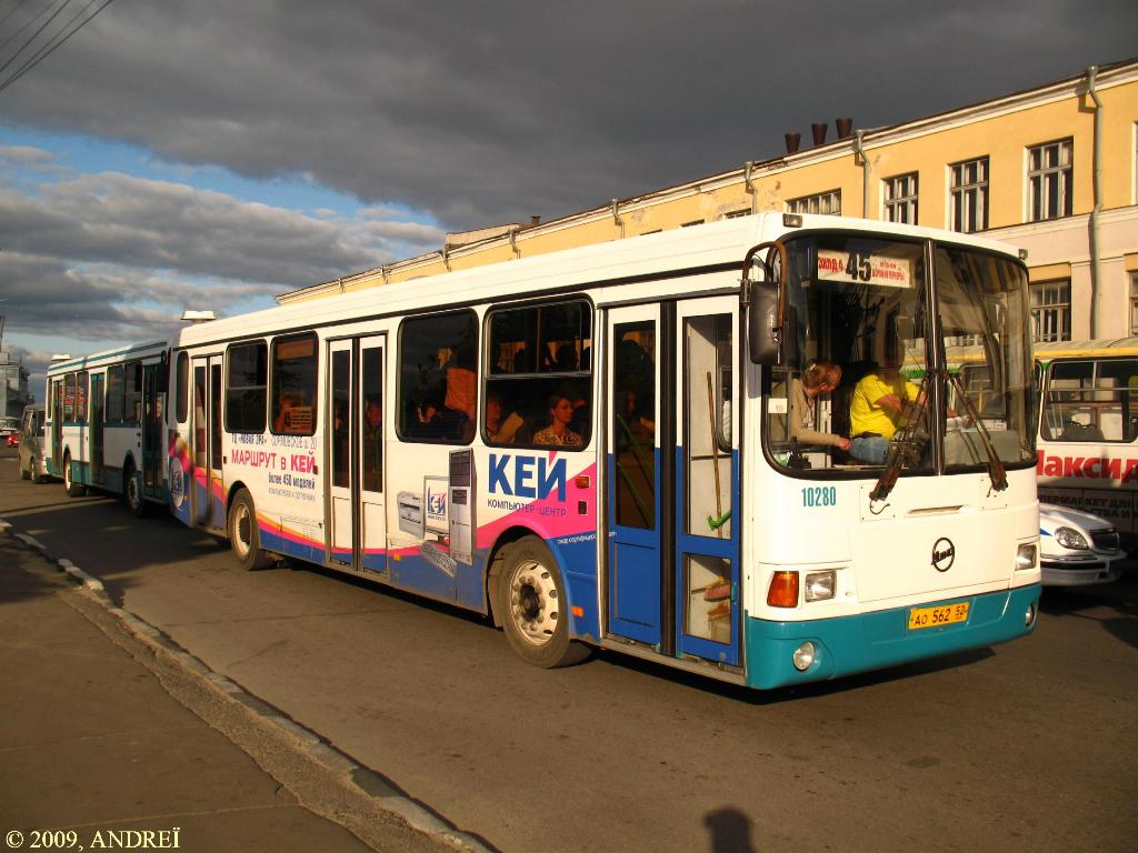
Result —
[{"label": "brown-grey asphalt road under and in front of the buses", "polygon": [[1009,645],[753,694],[303,564],[239,571],[170,517],[18,480],[0,516],[464,831],[522,851],[1132,851],[1138,570],[1046,590]]}]

